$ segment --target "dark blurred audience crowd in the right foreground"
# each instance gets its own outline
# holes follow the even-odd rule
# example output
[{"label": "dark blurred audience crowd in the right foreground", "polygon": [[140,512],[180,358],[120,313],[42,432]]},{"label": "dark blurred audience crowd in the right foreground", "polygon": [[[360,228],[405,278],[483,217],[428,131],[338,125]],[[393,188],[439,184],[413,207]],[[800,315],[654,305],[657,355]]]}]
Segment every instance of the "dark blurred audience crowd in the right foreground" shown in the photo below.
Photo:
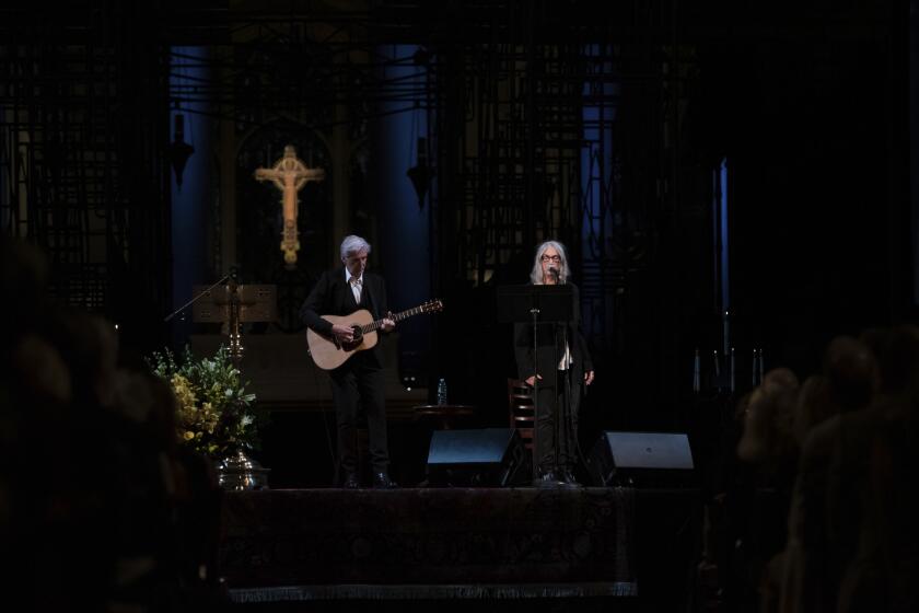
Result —
[{"label": "dark blurred audience crowd in the right foreground", "polygon": [[760,528],[787,525],[752,564],[759,611],[919,610],[917,391],[919,328],[898,326],[838,336],[803,385],[777,369],[738,403],[737,458],[778,500]]}]

